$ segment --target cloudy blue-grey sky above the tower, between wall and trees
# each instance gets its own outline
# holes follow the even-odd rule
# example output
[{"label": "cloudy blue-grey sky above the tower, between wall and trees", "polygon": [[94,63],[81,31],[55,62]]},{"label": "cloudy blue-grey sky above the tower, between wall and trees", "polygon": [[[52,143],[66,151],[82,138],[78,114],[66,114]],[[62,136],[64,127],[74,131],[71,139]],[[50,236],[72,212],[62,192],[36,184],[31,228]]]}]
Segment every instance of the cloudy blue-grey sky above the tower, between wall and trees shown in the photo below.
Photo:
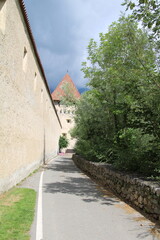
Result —
[{"label": "cloudy blue-grey sky above the tower, between wall and trees", "polygon": [[81,92],[87,79],[81,71],[89,40],[99,40],[125,7],[123,0],[25,0],[27,14],[52,92],[69,73]]}]

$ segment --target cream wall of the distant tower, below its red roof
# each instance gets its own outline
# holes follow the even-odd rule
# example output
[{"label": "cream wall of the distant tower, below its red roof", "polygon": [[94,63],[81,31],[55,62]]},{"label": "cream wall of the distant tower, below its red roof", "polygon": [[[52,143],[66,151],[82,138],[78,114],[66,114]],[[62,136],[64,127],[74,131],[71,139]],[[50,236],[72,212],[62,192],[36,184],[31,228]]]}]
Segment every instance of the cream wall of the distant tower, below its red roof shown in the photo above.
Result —
[{"label": "cream wall of the distant tower, below its red roof", "polygon": [[66,151],[67,149],[73,150],[76,143],[76,139],[71,137],[70,131],[75,126],[74,122],[75,107],[74,106],[66,107],[65,105],[62,105],[57,101],[55,101],[55,106],[57,109],[58,116],[62,123],[61,135],[62,136],[65,135],[69,140],[68,147],[66,149],[63,149],[63,151]]}]

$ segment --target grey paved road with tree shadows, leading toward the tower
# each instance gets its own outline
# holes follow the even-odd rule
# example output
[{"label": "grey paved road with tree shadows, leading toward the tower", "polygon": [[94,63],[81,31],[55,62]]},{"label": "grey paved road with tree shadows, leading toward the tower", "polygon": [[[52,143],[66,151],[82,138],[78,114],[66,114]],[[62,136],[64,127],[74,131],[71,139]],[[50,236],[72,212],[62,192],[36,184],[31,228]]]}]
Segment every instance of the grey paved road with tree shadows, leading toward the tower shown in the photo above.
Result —
[{"label": "grey paved road with tree shadows, leading toward the tower", "polygon": [[[37,188],[39,177],[28,181],[34,179]],[[81,173],[67,156],[46,167],[42,189],[43,240],[160,239],[153,223]],[[36,220],[31,240],[35,233]]]}]

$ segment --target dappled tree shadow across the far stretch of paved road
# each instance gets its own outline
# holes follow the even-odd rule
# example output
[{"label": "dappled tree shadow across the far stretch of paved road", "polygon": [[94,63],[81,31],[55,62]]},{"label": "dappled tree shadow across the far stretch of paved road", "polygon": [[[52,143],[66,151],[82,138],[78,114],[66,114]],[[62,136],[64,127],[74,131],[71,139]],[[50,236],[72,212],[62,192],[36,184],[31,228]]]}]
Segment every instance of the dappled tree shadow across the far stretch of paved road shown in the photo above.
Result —
[{"label": "dappled tree shadow across the far stretch of paved road", "polygon": [[72,162],[70,158],[56,160],[48,168],[59,173],[60,181],[47,183],[44,191],[47,193],[63,193],[79,196],[86,203],[101,202],[105,205],[113,205],[119,201],[107,190],[102,190],[96,183],[86,177]]}]

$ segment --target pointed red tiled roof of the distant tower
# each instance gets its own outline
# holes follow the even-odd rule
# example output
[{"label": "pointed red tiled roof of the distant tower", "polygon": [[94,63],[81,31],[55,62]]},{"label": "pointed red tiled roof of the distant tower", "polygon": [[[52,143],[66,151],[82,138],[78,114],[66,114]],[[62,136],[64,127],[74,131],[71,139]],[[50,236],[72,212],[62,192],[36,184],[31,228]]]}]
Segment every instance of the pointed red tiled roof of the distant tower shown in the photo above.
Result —
[{"label": "pointed red tiled roof of the distant tower", "polygon": [[52,92],[51,96],[53,100],[61,100],[61,97],[65,96],[65,92],[63,90],[63,86],[65,84],[69,84],[69,88],[71,89],[71,92],[73,93],[74,97],[79,99],[80,93],[78,92],[74,82],[72,81],[72,78],[69,76],[68,73],[64,76],[62,81],[58,84],[56,89]]}]

